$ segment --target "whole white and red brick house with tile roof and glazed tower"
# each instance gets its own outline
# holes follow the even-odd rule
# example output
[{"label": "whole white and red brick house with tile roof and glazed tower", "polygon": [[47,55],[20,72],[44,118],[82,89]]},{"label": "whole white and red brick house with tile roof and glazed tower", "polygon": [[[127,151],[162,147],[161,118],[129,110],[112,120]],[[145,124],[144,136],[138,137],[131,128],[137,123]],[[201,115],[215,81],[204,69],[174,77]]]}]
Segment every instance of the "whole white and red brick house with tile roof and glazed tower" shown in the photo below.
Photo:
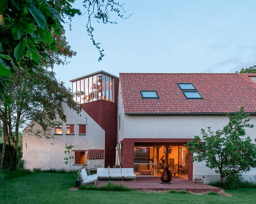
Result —
[{"label": "whole white and red brick house with tile roof and glazed tower", "polygon": [[[61,146],[52,145],[54,158],[63,158],[65,143],[72,143],[75,150],[84,152],[84,156],[80,155],[86,158],[82,165],[89,169],[103,165],[98,164],[97,157],[88,156],[89,152],[101,151],[105,167],[116,157],[117,164],[133,167],[138,176],[160,176],[167,164],[173,176],[201,178],[208,183],[218,180],[219,175],[203,162],[191,161],[193,155],[188,154],[187,141],[200,135],[202,128],[220,129],[228,122],[226,113],[235,113],[242,106],[256,126],[255,73],[120,73],[119,77],[99,71],[71,80],[73,92],[84,92],[74,98],[82,107],[83,116],[67,110],[67,120],[71,114],[74,121],[67,121],[61,131],[66,132],[66,126],[74,124],[75,135],[53,140]],[[84,117],[88,122],[81,122]],[[86,135],[79,136],[79,124],[86,124]],[[252,140],[256,137],[255,128],[247,130]],[[63,168],[54,164],[55,159],[50,160],[50,145],[46,147],[48,151],[41,150],[47,143],[45,139],[31,140],[27,135],[23,138],[23,145],[28,145],[23,147],[25,168]],[[37,159],[33,159],[36,154]],[[243,176],[255,180],[256,169]]]}]

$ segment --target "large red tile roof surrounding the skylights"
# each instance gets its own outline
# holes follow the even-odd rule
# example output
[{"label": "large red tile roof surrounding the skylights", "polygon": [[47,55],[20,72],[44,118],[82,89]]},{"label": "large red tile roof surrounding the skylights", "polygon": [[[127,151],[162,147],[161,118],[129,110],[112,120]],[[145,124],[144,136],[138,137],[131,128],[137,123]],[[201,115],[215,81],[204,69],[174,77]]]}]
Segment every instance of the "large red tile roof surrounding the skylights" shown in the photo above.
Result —
[{"label": "large red tile roof surrounding the skylights", "polygon": [[[120,73],[125,114],[256,113],[256,73]],[[186,99],[177,83],[193,83],[203,99]],[[143,99],[156,90],[159,99]]]}]

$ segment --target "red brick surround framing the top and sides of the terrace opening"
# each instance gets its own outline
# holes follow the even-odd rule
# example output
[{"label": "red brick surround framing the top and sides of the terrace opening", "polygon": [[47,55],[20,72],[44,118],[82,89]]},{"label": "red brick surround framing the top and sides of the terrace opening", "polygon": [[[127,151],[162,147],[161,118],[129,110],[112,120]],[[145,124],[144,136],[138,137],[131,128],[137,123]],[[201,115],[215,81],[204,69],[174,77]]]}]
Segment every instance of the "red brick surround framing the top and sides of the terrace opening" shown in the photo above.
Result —
[{"label": "red brick surround framing the top and sides of the terrace opening", "polygon": [[[145,145],[149,144],[160,144],[160,143],[168,143],[170,145],[181,145],[187,143],[190,140],[188,138],[125,138],[121,141],[122,144],[122,167],[124,168],[134,168],[134,145],[138,145],[138,143],[143,143]],[[193,162],[192,162],[193,154],[188,155],[188,180],[193,179]]]}]

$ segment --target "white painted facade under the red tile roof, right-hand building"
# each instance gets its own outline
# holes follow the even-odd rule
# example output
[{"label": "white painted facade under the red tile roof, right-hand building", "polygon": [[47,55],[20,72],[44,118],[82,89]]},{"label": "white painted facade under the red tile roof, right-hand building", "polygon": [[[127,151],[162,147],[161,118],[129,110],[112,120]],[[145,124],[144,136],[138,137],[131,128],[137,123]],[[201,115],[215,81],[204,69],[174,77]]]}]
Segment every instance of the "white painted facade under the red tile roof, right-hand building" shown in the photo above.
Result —
[{"label": "white painted facade under the red tile roof, right-hand building", "polygon": [[[120,115],[120,130],[118,141],[124,138],[194,138],[200,136],[201,129],[212,131],[221,129],[228,123],[226,115],[128,115],[122,107],[121,85],[119,84],[118,116]],[[256,138],[256,115],[251,115],[253,129],[246,133],[252,141]],[[119,123],[119,121],[118,121]],[[119,126],[119,124],[118,124]],[[243,174],[245,179],[256,181],[256,168]],[[204,183],[217,181],[220,176],[205,166],[204,162],[195,162],[193,165],[193,179],[204,179]]]}]

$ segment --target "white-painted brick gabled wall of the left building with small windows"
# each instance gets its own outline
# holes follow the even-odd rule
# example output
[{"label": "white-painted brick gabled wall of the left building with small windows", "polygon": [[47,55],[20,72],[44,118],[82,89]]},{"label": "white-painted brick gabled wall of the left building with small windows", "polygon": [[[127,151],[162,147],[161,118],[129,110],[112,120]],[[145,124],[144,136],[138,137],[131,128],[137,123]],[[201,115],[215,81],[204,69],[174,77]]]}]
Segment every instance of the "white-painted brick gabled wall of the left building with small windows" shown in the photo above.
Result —
[{"label": "white-painted brick gabled wall of the left building with small windows", "polygon": [[[33,168],[40,168],[41,170],[48,169],[65,169],[70,170],[70,167],[63,164],[66,150],[66,145],[73,145],[76,150],[88,150],[88,149],[104,149],[105,148],[105,131],[85,112],[82,110],[77,115],[66,104],[63,104],[63,109],[67,116],[67,122],[62,124],[62,135],[53,135],[54,129],[51,131],[53,139],[46,139],[44,137],[37,138],[36,136],[30,136],[26,133],[26,129],[23,131],[23,159],[26,169],[33,170]],[[66,135],[67,125],[74,124],[74,134]],[[86,135],[78,135],[78,124],[87,124]],[[39,125],[34,126],[35,130],[40,130]],[[71,154],[74,156],[74,152]],[[89,168],[94,168],[94,164],[97,166],[104,166],[104,160],[90,161],[87,160],[86,152],[86,164]],[[74,169],[81,169],[83,166],[73,166]],[[103,164],[103,165],[102,165]]]}]

